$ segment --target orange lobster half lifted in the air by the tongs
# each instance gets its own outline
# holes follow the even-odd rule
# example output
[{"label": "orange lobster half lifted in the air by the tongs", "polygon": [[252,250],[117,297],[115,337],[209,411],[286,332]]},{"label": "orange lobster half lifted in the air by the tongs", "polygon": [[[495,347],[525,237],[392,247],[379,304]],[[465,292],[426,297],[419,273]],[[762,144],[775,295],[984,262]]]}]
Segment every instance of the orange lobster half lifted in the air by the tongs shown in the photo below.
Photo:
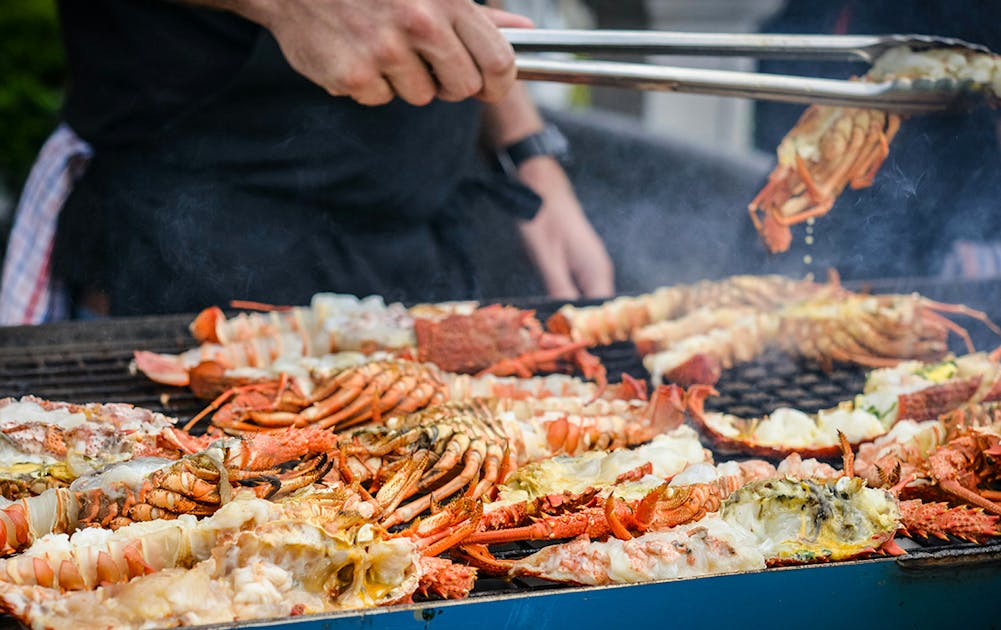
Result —
[{"label": "orange lobster half lifted in the air by the tongs", "polygon": [[[954,79],[996,101],[1001,57],[961,48],[915,52],[900,47],[882,55],[861,80],[899,78]],[[876,109],[810,106],[779,144],[778,165],[748,205],[769,251],[788,250],[790,226],[829,212],[846,186],[872,185],[901,120]]]}]

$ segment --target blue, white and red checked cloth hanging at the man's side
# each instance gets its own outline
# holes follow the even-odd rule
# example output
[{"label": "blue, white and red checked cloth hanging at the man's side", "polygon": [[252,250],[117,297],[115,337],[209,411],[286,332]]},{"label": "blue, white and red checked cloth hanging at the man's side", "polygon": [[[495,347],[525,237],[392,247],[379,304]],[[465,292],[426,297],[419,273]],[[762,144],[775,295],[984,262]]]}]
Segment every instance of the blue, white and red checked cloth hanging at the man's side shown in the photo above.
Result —
[{"label": "blue, white and red checked cloth hanging at the man's side", "polygon": [[66,319],[68,300],[49,259],[59,212],[83,173],[91,148],[66,124],[42,146],[14,216],[0,280],[0,326]]}]

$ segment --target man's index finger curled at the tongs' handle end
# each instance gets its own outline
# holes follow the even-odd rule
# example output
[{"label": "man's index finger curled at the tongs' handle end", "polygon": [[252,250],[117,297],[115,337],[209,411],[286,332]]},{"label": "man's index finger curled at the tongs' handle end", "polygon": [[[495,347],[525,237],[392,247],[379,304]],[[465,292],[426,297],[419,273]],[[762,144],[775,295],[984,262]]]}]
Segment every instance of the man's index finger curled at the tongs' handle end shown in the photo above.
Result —
[{"label": "man's index finger curled at the tongs' handle end", "polygon": [[[504,98],[515,84],[518,70],[515,68],[515,50],[487,19],[487,15],[473,12],[456,20],[454,28],[482,77],[482,89],[475,94],[476,97],[492,103]],[[507,15],[514,16],[511,13]]]}]

